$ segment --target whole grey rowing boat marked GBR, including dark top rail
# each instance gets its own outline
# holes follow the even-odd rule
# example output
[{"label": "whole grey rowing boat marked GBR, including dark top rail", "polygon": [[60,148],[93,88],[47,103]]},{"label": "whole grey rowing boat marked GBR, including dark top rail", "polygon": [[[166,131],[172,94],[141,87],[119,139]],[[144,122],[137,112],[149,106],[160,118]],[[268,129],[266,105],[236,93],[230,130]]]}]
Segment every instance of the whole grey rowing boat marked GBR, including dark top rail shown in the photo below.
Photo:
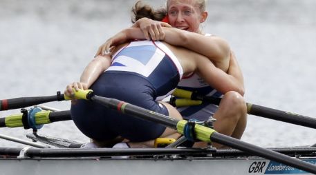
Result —
[{"label": "whole grey rowing boat marked GBR, including dark top rail", "polygon": [[[315,147],[271,150],[316,163]],[[2,147],[0,152],[0,174],[309,174],[232,149]]]}]

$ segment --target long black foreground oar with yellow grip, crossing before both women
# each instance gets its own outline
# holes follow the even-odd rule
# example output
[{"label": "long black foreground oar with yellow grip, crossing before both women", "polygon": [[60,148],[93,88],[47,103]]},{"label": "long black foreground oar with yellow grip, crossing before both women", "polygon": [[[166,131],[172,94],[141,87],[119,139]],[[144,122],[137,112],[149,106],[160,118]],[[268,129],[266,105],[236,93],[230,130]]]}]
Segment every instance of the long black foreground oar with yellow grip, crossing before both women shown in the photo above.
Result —
[{"label": "long black foreground oar with yellow grip, crossing before both women", "polygon": [[[86,94],[86,95],[83,95],[83,94]],[[100,103],[101,105],[104,105],[105,107],[109,107],[110,109],[113,109],[113,110],[118,110],[119,112],[122,112],[124,114],[129,114],[131,116],[134,116],[146,121],[160,123],[162,125],[165,125],[167,127],[177,130],[177,132],[180,134],[183,134],[185,125],[187,124],[187,121],[185,120],[179,121],[169,116],[158,114],[156,112],[144,109],[142,107],[138,107],[136,105],[126,103],[124,101],[97,96],[97,95],[94,95],[92,91],[87,92],[87,91],[79,90],[78,92],[75,92],[76,99],[82,99],[81,98],[82,96],[85,96],[84,99],[86,100],[95,101],[96,103]],[[194,127],[194,132],[196,134],[196,138],[200,141],[206,141],[206,142],[214,141],[216,143],[233,147],[244,152],[249,152],[250,154],[253,154],[256,156],[268,158],[272,161],[284,163],[285,165],[290,165],[292,167],[296,167],[306,172],[316,174],[316,165],[307,163],[305,161],[301,161],[297,158],[286,156],[284,154],[280,154],[278,152],[267,150],[263,147],[252,145],[250,143],[245,143],[243,141],[240,141],[236,138],[232,138],[230,136],[225,136],[224,134],[220,134],[216,132],[215,130],[212,130],[210,127],[205,127],[203,125],[196,124]]]}]

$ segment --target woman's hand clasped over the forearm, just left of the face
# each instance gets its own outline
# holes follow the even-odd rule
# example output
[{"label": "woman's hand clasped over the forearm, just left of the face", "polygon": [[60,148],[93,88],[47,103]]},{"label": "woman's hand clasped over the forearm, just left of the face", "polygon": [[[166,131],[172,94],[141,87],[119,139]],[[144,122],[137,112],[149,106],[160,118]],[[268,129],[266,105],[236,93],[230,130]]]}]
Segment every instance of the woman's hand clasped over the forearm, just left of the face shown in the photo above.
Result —
[{"label": "woman's hand clasped over the forearm, just left of the face", "polygon": [[147,40],[159,41],[165,39],[165,32],[163,32],[162,27],[171,28],[171,25],[165,22],[142,18],[138,19],[132,27],[140,28]]}]

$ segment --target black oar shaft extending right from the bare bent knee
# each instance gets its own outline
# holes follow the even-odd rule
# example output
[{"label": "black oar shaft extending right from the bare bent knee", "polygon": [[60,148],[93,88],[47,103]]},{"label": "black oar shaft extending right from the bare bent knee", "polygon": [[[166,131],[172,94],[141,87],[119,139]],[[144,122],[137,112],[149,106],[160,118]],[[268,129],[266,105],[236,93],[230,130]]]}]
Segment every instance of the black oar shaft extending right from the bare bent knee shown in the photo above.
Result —
[{"label": "black oar shaft extending right from the bare bent knee", "polygon": [[277,121],[284,121],[295,125],[301,125],[305,127],[311,127],[316,129],[316,119],[309,116],[302,116],[290,112],[281,110],[275,110],[270,107],[264,107],[260,105],[253,105],[248,103],[248,114],[263,116],[268,119],[274,119]]}]

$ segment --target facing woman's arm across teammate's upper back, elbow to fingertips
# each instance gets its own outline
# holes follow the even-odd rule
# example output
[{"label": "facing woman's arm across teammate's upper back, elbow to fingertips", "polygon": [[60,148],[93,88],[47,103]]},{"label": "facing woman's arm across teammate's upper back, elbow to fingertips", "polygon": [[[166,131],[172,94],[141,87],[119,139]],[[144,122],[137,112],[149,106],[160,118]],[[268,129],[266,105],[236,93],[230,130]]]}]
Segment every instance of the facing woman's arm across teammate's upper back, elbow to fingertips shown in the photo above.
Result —
[{"label": "facing woman's arm across teammate's upper back, elbow to fingertips", "polygon": [[[163,27],[162,29],[165,33],[163,41],[166,43],[182,46],[199,54],[203,54],[213,61],[216,67],[227,72],[230,62],[230,47],[225,40],[216,36],[205,37],[202,34],[187,32],[177,28]],[[146,39],[146,37],[140,28],[127,28],[101,45],[96,55],[104,54],[113,46],[132,39],[143,40]]]}]

